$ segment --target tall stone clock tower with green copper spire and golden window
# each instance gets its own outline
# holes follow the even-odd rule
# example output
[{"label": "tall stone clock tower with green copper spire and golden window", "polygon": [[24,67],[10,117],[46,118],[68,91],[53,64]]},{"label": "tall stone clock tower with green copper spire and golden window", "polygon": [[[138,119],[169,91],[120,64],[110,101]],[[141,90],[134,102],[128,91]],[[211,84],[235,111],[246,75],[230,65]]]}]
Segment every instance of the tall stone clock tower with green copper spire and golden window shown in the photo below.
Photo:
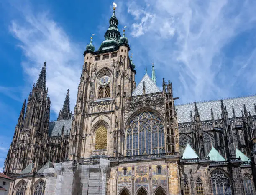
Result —
[{"label": "tall stone clock tower with green copper spire and golden window", "polygon": [[123,36],[118,30],[115,7],[104,37],[99,50],[95,51],[91,37],[84,51],[70,133],[69,158],[73,160],[123,155],[123,104],[136,86],[136,71],[125,30]]}]

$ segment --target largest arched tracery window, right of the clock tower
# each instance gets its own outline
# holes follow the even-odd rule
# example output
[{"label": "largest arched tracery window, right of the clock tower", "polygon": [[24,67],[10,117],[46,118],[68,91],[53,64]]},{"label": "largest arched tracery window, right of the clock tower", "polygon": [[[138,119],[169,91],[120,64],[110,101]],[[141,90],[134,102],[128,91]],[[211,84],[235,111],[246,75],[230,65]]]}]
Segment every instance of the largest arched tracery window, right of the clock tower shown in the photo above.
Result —
[{"label": "largest arched tracery window, right of the clock tower", "polygon": [[126,130],[126,155],[165,153],[164,125],[152,112],[142,112],[131,120]]}]

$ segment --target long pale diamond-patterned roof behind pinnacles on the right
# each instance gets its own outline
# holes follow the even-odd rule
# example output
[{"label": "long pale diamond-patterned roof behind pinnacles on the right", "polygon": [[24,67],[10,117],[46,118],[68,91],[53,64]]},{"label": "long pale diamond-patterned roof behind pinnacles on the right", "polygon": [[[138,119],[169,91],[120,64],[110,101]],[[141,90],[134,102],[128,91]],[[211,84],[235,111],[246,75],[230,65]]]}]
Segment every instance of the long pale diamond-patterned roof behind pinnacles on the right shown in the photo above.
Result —
[{"label": "long pale diamond-patterned roof behind pinnacles on the right", "polygon": [[[254,104],[256,103],[256,95],[251,95],[247,97],[237,97],[224,99],[223,104],[227,107],[228,117],[233,117],[232,106],[234,107],[236,117],[241,117],[243,110],[243,105],[246,105],[247,111],[251,112],[251,115],[255,115]],[[178,110],[178,122],[190,122],[190,111],[194,112],[194,103],[176,105],[175,108]],[[200,120],[212,120],[211,118],[211,108],[213,111],[214,119],[217,119],[217,114],[221,118],[221,104],[220,100],[207,101],[207,102],[197,102],[197,108],[200,115]]]}]

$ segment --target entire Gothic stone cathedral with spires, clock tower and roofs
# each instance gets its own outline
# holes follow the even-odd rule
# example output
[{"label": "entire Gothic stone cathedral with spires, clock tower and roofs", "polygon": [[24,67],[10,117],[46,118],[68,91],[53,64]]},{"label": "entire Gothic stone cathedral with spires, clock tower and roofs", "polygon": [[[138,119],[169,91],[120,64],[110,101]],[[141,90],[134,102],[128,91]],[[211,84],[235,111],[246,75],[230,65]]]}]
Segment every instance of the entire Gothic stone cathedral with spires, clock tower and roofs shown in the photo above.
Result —
[{"label": "entire Gothic stone cathedral with spires, clock tower and roofs", "polygon": [[104,37],[84,51],[74,114],[68,90],[52,122],[44,62],[5,160],[9,194],[256,194],[256,96],[176,105],[154,64],[136,85],[115,9]]}]

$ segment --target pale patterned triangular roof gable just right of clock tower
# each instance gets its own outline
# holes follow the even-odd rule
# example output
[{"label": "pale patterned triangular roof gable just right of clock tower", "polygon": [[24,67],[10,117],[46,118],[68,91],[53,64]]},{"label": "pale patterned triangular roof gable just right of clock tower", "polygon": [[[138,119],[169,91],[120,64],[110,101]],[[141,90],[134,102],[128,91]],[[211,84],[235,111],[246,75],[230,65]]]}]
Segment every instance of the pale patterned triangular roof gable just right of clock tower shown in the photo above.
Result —
[{"label": "pale patterned triangular roof gable just right of clock tower", "polygon": [[148,74],[144,75],[141,79],[141,82],[133,91],[132,96],[142,95],[143,94],[143,81],[145,82],[145,92],[146,94],[161,92],[153,80],[148,76]]}]

